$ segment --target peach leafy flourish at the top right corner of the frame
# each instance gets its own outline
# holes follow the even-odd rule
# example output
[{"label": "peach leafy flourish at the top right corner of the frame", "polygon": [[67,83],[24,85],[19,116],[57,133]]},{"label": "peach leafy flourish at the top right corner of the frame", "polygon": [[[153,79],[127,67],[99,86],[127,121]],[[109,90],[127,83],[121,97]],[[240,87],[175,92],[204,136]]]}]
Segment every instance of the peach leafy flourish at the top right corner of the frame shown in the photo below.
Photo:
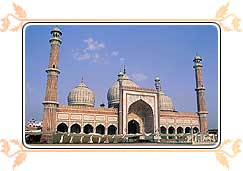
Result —
[{"label": "peach leafy flourish at the top right corner of the frame", "polygon": [[[234,13],[228,14],[229,2],[225,5],[222,5],[218,11],[216,12],[216,20],[219,25],[224,29],[224,31],[237,31],[241,32],[242,29],[240,28],[240,21],[241,19],[238,18]],[[227,21],[231,21],[230,25],[227,25]]]}]

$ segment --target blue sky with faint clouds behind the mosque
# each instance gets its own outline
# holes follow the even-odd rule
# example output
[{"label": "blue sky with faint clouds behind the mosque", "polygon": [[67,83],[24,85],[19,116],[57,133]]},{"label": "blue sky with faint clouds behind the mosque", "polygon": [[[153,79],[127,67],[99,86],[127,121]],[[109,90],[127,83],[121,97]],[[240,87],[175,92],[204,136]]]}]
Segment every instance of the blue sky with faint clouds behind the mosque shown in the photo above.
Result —
[{"label": "blue sky with faint clouds behind the mosque", "polygon": [[[43,117],[51,37],[54,25],[25,29],[26,120]],[[139,86],[154,88],[159,76],[177,111],[196,112],[193,58],[203,61],[209,128],[217,128],[218,33],[213,25],[59,25],[62,30],[58,102],[67,104],[69,91],[82,77],[96,95],[96,106],[107,106],[107,91],[126,65]]]}]

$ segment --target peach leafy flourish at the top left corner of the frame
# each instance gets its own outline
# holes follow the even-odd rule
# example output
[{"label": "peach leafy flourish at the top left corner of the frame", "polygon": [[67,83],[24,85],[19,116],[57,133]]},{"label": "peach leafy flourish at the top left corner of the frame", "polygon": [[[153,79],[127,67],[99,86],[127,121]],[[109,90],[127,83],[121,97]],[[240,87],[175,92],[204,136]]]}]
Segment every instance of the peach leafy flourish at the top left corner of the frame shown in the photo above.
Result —
[{"label": "peach leafy flourish at the top left corner of the frame", "polygon": [[[25,10],[21,6],[15,4],[15,3],[13,3],[12,5],[14,8],[15,14],[8,13],[7,15],[5,15],[5,17],[3,17],[1,19],[1,21],[2,21],[2,26],[0,28],[1,32],[5,32],[7,30],[18,31],[19,29],[22,28],[24,21],[26,20],[27,15],[26,15]],[[10,18],[17,20],[17,24],[12,26],[11,28],[10,28],[10,24],[11,24]]]}]

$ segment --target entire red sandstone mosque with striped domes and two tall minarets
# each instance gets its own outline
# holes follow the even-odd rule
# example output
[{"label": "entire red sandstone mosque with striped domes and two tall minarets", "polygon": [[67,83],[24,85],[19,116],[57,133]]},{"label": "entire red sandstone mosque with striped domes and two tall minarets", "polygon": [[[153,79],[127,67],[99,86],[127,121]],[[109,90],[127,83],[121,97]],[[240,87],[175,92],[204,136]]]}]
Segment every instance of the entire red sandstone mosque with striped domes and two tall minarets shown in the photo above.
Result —
[{"label": "entire red sandstone mosque with striped domes and two tall minarets", "polygon": [[55,132],[103,135],[208,132],[203,66],[199,55],[193,60],[197,112],[176,111],[171,98],[161,89],[159,77],[154,80],[154,89],[142,88],[128,77],[125,68],[108,89],[108,107],[94,106],[95,94],[84,80],[69,92],[68,105],[61,105],[57,101],[57,87],[62,32],[54,27],[51,35],[41,142],[51,143]]}]

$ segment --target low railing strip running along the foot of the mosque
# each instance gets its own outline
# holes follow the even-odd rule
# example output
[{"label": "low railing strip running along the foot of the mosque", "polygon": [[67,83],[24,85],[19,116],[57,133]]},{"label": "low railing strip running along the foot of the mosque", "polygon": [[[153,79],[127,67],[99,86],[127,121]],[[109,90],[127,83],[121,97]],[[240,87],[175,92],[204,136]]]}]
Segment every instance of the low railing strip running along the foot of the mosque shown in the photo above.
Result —
[{"label": "low railing strip running along the foot of the mosque", "polygon": [[101,135],[97,133],[55,133],[54,144],[102,144],[102,143],[161,143],[161,144],[214,144],[215,134],[126,134]]}]

